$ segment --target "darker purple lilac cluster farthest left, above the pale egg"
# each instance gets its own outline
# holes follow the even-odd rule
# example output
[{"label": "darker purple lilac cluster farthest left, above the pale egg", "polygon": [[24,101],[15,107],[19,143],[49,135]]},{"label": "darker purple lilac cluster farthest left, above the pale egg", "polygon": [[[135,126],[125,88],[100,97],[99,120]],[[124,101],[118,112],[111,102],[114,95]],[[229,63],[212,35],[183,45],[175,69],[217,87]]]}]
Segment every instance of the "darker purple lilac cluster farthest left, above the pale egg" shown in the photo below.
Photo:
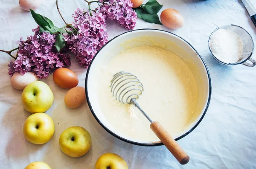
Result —
[{"label": "darker purple lilac cluster farthest left, above the pale egg", "polygon": [[20,38],[17,59],[8,65],[10,75],[15,72],[24,75],[29,71],[42,79],[47,77],[51,70],[68,67],[71,64],[68,54],[57,52],[56,34],[41,33],[39,26],[32,31],[35,32],[34,36],[27,37],[26,41]]}]

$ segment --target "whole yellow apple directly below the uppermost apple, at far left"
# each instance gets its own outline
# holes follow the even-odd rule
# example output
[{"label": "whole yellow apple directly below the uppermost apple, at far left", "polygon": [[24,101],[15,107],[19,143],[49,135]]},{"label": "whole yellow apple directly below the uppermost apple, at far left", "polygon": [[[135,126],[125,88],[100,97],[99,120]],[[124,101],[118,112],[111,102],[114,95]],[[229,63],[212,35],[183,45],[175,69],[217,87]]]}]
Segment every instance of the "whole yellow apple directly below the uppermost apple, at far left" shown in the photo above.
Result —
[{"label": "whole yellow apple directly below the uppermost apple, at far left", "polygon": [[34,144],[45,144],[51,140],[54,134],[52,118],[45,113],[30,115],[23,126],[25,138]]}]

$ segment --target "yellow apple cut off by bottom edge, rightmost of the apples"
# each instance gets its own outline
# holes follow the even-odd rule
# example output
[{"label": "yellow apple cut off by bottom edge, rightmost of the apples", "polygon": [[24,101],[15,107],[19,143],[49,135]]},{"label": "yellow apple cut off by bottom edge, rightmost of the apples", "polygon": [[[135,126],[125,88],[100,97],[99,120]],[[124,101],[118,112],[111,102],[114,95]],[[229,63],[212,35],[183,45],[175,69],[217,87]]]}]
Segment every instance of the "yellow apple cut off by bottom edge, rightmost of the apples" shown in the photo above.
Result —
[{"label": "yellow apple cut off by bottom edge, rightmost of the apples", "polygon": [[105,153],[96,161],[95,169],[128,169],[128,165],[121,156]]}]

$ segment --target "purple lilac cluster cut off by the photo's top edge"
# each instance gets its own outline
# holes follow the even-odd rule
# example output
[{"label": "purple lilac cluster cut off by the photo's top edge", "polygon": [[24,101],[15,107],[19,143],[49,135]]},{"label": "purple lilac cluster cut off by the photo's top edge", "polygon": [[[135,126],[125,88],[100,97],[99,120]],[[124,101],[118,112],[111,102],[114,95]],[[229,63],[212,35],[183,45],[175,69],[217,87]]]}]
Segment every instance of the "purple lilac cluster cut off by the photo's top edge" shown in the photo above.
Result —
[{"label": "purple lilac cluster cut off by the photo's top edge", "polygon": [[136,26],[137,14],[131,8],[131,0],[100,0],[102,6],[99,11],[107,16],[108,20],[114,20],[128,30]]}]

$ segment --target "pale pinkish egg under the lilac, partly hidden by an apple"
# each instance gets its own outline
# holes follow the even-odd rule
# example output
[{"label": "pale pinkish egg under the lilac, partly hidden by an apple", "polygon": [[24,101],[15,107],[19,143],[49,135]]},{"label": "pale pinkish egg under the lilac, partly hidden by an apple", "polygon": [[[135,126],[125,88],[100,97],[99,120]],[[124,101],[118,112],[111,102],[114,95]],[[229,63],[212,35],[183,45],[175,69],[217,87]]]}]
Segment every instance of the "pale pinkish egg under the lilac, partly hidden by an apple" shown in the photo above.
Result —
[{"label": "pale pinkish egg under the lilac, partly hidden by an apple", "polygon": [[27,72],[24,75],[20,73],[15,73],[11,77],[11,85],[17,90],[23,90],[29,83],[38,81],[38,77],[35,73]]}]

